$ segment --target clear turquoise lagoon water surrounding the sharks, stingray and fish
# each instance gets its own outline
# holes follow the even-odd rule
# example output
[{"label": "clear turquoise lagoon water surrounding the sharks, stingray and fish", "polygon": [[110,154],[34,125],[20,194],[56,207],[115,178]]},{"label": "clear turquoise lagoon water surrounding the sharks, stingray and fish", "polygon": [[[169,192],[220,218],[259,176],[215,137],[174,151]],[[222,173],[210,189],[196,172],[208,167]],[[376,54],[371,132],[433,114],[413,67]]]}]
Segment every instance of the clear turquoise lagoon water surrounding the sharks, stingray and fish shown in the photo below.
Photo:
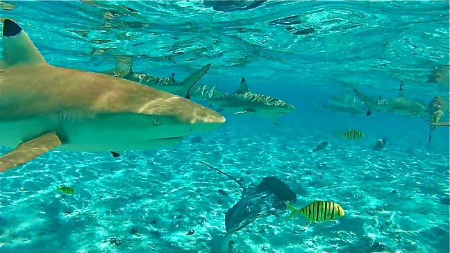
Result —
[{"label": "clear turquoise lagoon water surrounding the sharks, stingray and fish", "polygon": [[[329,200],[346,211],[327,223],[260,218],[233,234],[234,252],[449,252],[449,129],[428,143],[427,116],[313,107],[353,88],[394,98],[401,80],[405,96],[426,106],[449,98],[448,80],[427,82],[449,64],[448,1],[10,3],[1,17],[17,21],[50,64],[103,72],[133,55],[134,71],[182,80],[211,63],[200,85],[233,92],[244,77],[251,91],[297,110],[278,125],[224,114],[221,127],[173,146],[117,158],[52,151],[1,173],[0,252],[219,252],[224,213],[241,191],[201,162],[246,184],[278,177],[296,207]],[[353,128],[365,137],[338,135]]]}]

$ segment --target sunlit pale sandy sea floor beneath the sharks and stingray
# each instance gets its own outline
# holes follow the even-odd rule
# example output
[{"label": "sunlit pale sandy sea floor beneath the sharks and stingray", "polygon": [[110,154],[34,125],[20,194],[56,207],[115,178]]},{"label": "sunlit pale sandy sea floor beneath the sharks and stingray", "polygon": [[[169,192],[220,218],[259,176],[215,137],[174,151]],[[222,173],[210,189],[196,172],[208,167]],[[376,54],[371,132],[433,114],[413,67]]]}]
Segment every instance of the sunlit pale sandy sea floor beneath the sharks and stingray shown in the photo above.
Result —
[{"label": "sunlit pale sandy sea floor beneath the sharks and stingray", "polygon": [[326,223],[260,218],[233,236],[235,252],[449,252],[448,148],[399,139],[375,152],[372,139],[290,125],[237,129],[118,158],[49,152],[2,173],[0,252],[217,252],[240,189],[199,162],[246,184],[276,176],[297,207],[329,200],[346,211]]}]

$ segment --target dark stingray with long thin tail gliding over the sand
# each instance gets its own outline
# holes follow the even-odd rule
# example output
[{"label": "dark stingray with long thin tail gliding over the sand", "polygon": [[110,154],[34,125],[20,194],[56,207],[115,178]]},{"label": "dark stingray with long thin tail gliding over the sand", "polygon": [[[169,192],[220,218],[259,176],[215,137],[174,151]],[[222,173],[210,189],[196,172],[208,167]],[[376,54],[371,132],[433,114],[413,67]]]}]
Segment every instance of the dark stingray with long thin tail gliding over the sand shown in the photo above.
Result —
[{"label": "dark stingray with long thin tail gliding over the sand", "polygon": [[226,175],[236,182],[242,189],[242,196],[238,203],[233,205],[225,213],[226,234],[222,239],[221,252],[228,252],[228,243],[233,233],[238,232],[257,218],[281,214],[286,209],[286,202],[297,201],[297,196],[285,184],[276,177],[263,177],[263,181],[256,186],[245,186],[241,180],[236,180],[231,175],[220,171],[209,164],[202,163],[218,173]]}]

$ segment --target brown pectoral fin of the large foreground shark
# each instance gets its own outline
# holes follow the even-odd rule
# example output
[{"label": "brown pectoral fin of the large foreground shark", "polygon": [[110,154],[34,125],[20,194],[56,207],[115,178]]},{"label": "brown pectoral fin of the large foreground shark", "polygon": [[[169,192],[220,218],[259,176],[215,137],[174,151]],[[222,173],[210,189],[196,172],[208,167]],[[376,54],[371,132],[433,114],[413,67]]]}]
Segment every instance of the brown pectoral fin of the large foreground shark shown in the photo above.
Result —
[{"label": "brown pectoral fin of the large foreground shark", "polygon": [[0,157],[0,172],[25,164],[60,145],[61,141],[54,132],[20,143],[14,150]]}]

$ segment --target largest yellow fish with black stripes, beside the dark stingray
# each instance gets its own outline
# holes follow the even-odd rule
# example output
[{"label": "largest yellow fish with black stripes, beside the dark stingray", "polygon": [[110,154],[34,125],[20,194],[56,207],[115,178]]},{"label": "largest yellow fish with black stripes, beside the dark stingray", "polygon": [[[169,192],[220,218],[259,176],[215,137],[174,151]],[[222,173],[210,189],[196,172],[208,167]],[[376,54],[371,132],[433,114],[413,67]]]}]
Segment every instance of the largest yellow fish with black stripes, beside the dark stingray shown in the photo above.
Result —
[{"label": "largest yellow fish with black stripes, beside the dark stingray", "polygon": [[306,207],[303,207],[302,209],[295,209],[289,202],[286,202],[286,205],[291,211],[288,220],[290,220],[290,218],[294,217],[296,214],[301,214],[301,216],[304,216],[311,222],[337,220],[338,218],[342,218],[345,215],[344,209],[342,209],[339,204],[329,201],[315,201],[311,204],[308,204]]}]

